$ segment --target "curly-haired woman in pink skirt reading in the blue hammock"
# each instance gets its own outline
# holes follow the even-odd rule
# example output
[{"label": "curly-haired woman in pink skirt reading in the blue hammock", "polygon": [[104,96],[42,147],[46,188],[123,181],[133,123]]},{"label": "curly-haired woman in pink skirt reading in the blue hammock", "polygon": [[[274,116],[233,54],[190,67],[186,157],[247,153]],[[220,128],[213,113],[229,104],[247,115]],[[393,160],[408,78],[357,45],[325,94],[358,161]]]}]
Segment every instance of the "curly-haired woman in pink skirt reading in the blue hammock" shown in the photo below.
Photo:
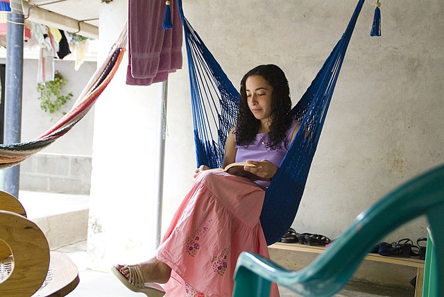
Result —
[{"label": "curly-haired woman in pink skirt reading in the blue hammock", "polygon": [[[157,284],[144,284],[157,282],[165,284],[167,296],[231,296],[239,254],[250,251],[268,257],[259,215],[266,187],[300,123],[291,117],[288,80],[278,66],[259,65],[248,71],[241,80],[240,96],[223,167],[246,164],[226,172],[205,165],[196,169],[194,183],[155,257],[112,267],[129,289],[163,296]],[[273,285],[271,296],[278,295]]]}]

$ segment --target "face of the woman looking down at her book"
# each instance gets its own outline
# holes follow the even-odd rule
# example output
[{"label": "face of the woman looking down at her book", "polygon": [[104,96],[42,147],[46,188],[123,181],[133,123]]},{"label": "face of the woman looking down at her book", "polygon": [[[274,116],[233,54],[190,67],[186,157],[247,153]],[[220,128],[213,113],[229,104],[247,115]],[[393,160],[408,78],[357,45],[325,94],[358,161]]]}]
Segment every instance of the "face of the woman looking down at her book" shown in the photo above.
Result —
[{"label": "face of the woman looking down at her book", "polygon": [[273,87],[262,76],[248,76],[245,81],[247,103],[256,119],[262,124],[270,124],[271,95]]}]

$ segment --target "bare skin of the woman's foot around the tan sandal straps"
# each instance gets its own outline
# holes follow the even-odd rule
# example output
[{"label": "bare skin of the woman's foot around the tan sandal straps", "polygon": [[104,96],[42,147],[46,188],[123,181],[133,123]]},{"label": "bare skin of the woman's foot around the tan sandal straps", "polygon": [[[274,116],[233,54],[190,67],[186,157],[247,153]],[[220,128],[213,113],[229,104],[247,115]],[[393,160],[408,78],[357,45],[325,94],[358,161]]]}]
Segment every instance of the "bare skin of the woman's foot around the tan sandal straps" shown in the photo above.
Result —
[{"label": "bare skin of the woman's foot around the tan sandal straps", "polygon": [[[164,262],[160,262],[156,257],[139,263],[142,274],[144,275],[144,282],[157,282],[158,284],[164,284],[168,282],[171,275],[171,268]],[[117,264],[115,266],[123,276],[127,279],[130,278],[130,271],[126,265]]]}]

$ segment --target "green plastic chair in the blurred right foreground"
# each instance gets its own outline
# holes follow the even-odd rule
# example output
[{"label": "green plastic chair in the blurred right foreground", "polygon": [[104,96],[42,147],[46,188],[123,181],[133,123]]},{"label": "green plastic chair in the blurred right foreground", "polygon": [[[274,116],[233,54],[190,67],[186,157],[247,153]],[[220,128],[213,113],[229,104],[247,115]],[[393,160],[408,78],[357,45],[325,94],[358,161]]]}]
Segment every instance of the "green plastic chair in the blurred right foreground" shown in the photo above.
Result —
[{"label": "green plastic chair in the blurred right foreground", "polygon": [[[347,284],[366,254],[385,235],[403,223],[425,214],[434,254],[427,258],[433,270],[427,295],[444,291],[444,164],[422,173],[359,214],[352,225],[300,271],[289,271],[260,255],[239,255],[234,273],[234,297],[269,296],[271,282],[301,296],[332,296]],[[427,249],[428,250],[428,249]],[[426,275],[427,277],[427,275]]]}]

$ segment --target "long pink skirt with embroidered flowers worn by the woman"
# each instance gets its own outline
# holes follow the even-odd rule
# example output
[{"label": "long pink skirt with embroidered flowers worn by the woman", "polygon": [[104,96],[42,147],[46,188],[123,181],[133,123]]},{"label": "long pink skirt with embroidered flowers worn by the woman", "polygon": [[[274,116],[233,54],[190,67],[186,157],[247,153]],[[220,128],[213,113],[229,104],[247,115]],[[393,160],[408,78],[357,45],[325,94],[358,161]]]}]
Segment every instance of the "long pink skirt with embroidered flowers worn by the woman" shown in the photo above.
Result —
[{"label": "long pink skirt with embroidered flowers worn by the woman", "polygon": [[[166,296],[232,296],[239,254],[269,257],[259,222],[264,196],[246,178],[200,173],[156,251],[173,270]],[[275,284],[271,296],[279,296]]]}]

